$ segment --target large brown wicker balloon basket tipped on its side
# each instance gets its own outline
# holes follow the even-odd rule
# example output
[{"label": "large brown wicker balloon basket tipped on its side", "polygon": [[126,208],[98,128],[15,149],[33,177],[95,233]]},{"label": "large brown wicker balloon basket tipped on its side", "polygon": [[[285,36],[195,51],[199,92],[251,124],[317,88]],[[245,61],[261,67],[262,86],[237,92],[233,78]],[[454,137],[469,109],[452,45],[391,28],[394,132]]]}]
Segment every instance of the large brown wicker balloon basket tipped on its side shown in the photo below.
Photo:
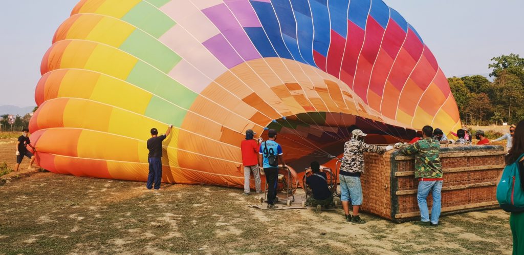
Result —
[{"label": "large brown wicker balloon basket tipped on its side", "polygon": [[[498,208],[495,182],[505,166],[504,154],[502,146],[441,147],[442,215]],[[394,150],[365,153],[364,161],[362,210],[395,222],[420,219],[414,157]]]}]

